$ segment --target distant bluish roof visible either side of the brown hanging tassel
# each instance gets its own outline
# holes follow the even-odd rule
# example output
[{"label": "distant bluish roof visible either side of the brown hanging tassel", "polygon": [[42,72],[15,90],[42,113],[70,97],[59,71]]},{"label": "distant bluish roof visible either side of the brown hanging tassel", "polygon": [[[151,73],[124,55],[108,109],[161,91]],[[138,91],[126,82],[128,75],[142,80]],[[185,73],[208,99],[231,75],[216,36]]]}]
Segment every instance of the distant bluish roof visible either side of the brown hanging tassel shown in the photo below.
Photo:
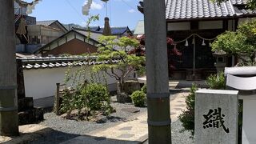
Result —
[{"label": "distant bluish roof visible either side of the brown hanging tassel", "polygon": [[[130,31],[129,27],[110,27],[111,29],[111,34],[117,35],[117,34],[124,34],[127,30]],[[93,26],[90,27],[90,31],[95,32],[95,33],[100,33],[102,34],[104,30],[104,27],[100,26]]]}]

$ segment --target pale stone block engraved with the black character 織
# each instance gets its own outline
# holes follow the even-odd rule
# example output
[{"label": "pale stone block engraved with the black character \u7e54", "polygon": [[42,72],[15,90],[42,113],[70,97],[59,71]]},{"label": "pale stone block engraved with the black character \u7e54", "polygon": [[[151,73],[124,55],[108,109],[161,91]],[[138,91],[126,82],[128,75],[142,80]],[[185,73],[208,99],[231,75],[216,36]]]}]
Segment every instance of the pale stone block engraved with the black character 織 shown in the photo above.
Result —
[{"label": "pale stone block engraved with the black character \u7e54", "polygon": [[195,97],[195,143],[238,143],[238,91],[198,90]]}]

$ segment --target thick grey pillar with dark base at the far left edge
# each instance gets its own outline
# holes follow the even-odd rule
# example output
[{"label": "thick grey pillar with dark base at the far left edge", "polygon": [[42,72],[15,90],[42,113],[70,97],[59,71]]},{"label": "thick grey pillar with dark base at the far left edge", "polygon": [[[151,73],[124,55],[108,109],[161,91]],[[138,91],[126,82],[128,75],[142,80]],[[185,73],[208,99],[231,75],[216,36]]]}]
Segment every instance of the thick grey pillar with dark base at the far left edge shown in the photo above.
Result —
[{"label": "thick grey pillar with dark base at the far left edge", "polygon": [[0,1],[0,135],[18,135],[14,1]]}]

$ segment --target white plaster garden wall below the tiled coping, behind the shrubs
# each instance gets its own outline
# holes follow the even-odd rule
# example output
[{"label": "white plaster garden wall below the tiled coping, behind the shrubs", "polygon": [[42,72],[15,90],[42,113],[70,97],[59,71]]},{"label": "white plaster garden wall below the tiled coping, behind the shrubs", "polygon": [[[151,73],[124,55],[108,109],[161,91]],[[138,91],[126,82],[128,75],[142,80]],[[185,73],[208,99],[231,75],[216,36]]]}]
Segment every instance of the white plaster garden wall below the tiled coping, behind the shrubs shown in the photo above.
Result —
[{"label": "white plaster garden wall below the tiled coping, behind the shrubs", "polygon": [[[90,80],[89,69],[89,67],[86,68],[86,71],[88,71],[86,79]],[[23,73],[26,97],[39,99],[54,96],[56,83],[62,84],[64,82],[66,70],[68,70],[68,67],[24,70]],[[73,67],[71,69],[71,73],[77,70],[79,70],[79,66]],[[133,78],[133,73],[130,74],[130,78]],[[113,85],[116,83],[116,80],[114,78],[107,77],[107,82],[108,85]]]}]

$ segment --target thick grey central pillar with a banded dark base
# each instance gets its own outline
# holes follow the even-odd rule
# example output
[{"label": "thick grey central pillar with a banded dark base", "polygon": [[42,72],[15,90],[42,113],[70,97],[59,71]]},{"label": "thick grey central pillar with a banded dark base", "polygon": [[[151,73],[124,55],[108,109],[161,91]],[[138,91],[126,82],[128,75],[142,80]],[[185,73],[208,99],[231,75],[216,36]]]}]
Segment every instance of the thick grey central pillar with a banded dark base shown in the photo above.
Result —
[{"label": "thick grey central pillar with a banded dark base", "polygon": [[149,143],[170,144],[165,0],[144,1]]}]

